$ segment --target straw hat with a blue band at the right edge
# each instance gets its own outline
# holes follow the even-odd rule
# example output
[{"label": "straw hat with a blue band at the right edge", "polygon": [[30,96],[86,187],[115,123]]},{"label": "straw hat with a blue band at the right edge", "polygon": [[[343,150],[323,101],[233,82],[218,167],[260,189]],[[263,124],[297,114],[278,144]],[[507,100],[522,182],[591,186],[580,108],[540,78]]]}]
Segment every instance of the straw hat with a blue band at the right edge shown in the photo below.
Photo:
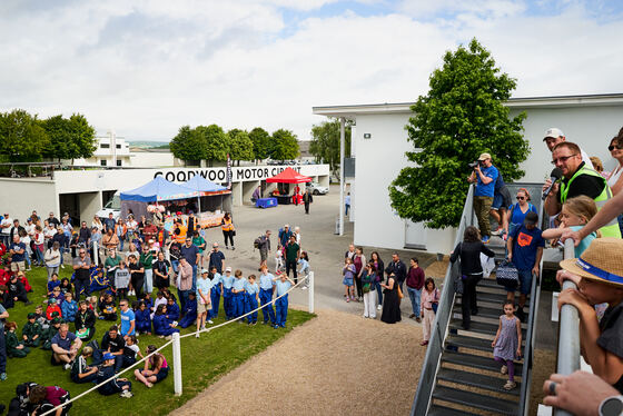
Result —
[{"label": "straw hat with a blue band at the right edge", "polygon": [[562,260],[561,267],[585,279],[623,288],[623,239],[596,238],[580,258]]}]

